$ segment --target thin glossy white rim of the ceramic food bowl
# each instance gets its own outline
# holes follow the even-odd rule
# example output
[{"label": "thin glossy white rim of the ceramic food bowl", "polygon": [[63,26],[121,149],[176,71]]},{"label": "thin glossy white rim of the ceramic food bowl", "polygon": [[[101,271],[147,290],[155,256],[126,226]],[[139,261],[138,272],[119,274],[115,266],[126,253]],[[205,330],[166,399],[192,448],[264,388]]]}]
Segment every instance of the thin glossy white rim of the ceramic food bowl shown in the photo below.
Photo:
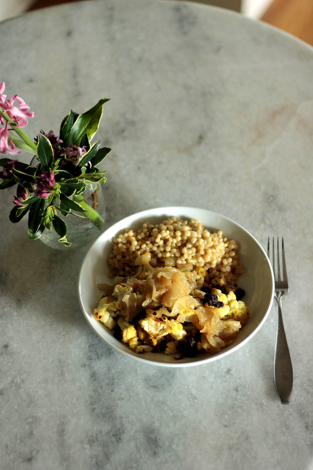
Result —
[{"label": "thin glossy white rim of the ceramic food bowl", "polygon": [[[149,359],[145,359],[144,357],[144,354],[143,355],[139,355],[139,354],[132,354],[132,352],[128,352],[128,351],[124,351],[122,349],[120,349],[119,347],[117,347],[115,344],[111,343],[109,340],[107,340],[106,338],[103,338],[103,337],[100,337],[97,333],[97,331],[93,328],[93,323],[92,323],[92,318],[90,317],[89,313],[86,312],[85,308],[84,308],[84,304],[83,304],[83,301],[82,301],[82,298],[81,298],[81,291],[80,291],[80,286],[81,286],[81,275],[82,275],[82,272],[83,272],[83,268],[84,268],[84,264],[85,264],[85,261],[86,259],[89,257],[90,255],[90,252],[92,251],[94,245],[96,243],[98,243],[99,239],[101,237],[103,237],[108,230],[112,230],[114,229],[115,226],[117,225],[120,225],[123,221],[125,221],[125,227],[127,227],[127,220],[128,219],[133,219],[134,217],[136,217],[135,220],[133,220],[131,223],[136,223],[136,220],[137,219],[141,219],[145,216],[147,217],[152,217],[153,216],[153,211],[165,211],[168,212],[170,211],[171,209],[173,210],[177,210],[179,209],[180,211],[184,211],[184,210],[187,210],[187,211],[198,211],[198,210],[201,210],[201,211],[206,211],[206,212],[210,212],[211,214],[214,214],[215,216],[219,216],[219,217],[222,217],[223,219],[225,219],[226,221],[230,222],[231,224],[234,224],[235,226],[239,227],[241,230],[243,230],[247,235],[249,235],[253,240],[254,242],[259,246],[260,250],[263,252],[263,254],[265,255],[265,259],[267,261],[267,265],[269,267],[269,270],[270,270],[270,274],[271,274],[271,282],[272,282],[272,294],[271,294],[271,299],[270,301],[268,302],[268,305],[267,305],[267,310],[266,310],[266,313],[264,314],[262,320],[260,321],[260,323],[256,326],[256,328],[250,333],[250,335],[248,335],[243,341],[241,341],[240,343],[238,343],[237,345],[235,344],[232,348],[230,349],[227,349],[226,351],[221,351],[217,354],[213,354],[212,356],[208,356],[206,358],[202,358],[202,359],[199,359],[199,360],[193,360],[191,362],[179,362],[179,361],[175,361],[173,363],[171,362],[158,362],[158,361],[154,361],[154,360],[149,360]],[[152,213],[151,213],[152,212]],[[154,215],[155,216],[155,215]],[[170,217],[170,216],[169,216]],[[176,217],[176,216],[174,216]],[[116,231],[118,231],[119,229],[117,229]],[[122,228],[121,228],[122,230]],[[238,224],[237,222],[235,222],[234,220],[232,219],[229,219],[228,217],[222,215],[222,214],[219,214],[218,212],[214,212],[214,211],[210,211],[208,209],[202,209],[202,208],[196,208],[196,207],[189,207],[189,206],[164,206],[164,207],[154,207],[152,209],[146,209],[145,211],[140,211],[140,212],[135,212],[134,214],[130,214],[129,216],[127,217],[124,217],[123,219],[115,222],[113,225],[111,225],[110,227],[107,227],[107,229],[102,232],[102,234],[100,234],[96,240],[92,243],[91,247],[89,248],[89,250],[87,251],[87,253],[85,254],[84,256],[84,259],[82,261],[82,264],[81,264],[81,267],[80,267],[80,270],[79,270],[79,274],[78,274],[78,281],[77,281],[77,293],[78,293],[78,299],[79,299],[79,304],[80,304],[80,307],[81,307],[81,310],[84,314],[84,317],[87,321],[87,323],[89,324],[89,326],[91,327],[91,329],[94,331],[94,333],[99,336],[100,339],[102,339],[105,343],[107,343],[107,345],[109,345],[110,347],[114,348],[116,351],[122,353],[123,355],[127,356],[127,357],[131,357],[135,360],[138,360],[140,361],[141,363],[145,363],[145,364],[151,364],[151,365],[155,365],[155,366],[162,366],[162,367],[189,367],[189,366],[198,366],[198,365],[201,365],[201,364],[207,364],[208,362],[213,362],[214,360],[218,360],[218,359],[221,359],[227,355],[229,355],[230,353],[232,352],[235,352],[237,351],[241,346],[245,345],[259,330],[260,328],[263,326],[264,322],[266,321],[267,317],[268,317],[268,314],[271,310],[271,307],[272,307],[272,304],[273,304],[273,299],[274,299],[274,291],[275,291],[275,278],[274,278],[274,273],[273,273],[273,268],[272,268],[272,265],[270,263],[270,260],[268,259],[267,257],[267,254],[265,252],[265,250],[263,249],[262,245],[256,240],[256,238],[251,235],[250,232],[248,232],[248,230],[246,230],[244,227],[242,227],[240,224]]]}]

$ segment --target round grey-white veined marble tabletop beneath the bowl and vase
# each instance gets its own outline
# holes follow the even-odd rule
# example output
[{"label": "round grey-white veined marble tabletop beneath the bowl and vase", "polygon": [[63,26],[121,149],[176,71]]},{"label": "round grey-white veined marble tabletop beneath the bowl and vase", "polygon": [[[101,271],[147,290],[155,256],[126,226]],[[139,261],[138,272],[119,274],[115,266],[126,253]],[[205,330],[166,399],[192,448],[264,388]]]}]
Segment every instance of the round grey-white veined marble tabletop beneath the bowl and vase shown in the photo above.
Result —
[{"label": "round grey-white veined marble tabletop beneath the bowl and vase", "polygon": [[[81,313],[88,249],[53,251],[8,220],[1,192],[0,468],[313,469],[313,49],[206,5],[104,0],[0,24],[1,81],[57,130],[101,97],[112,147],[105,227],[191,205],[234,219],[265,246],[284,235],[290,405],[273,380],[276,307],[246,345],[193,368],[142,365]],[[27,154],[23,161],[28,161]],[[105,228],[104,227],[104,228]]]}]

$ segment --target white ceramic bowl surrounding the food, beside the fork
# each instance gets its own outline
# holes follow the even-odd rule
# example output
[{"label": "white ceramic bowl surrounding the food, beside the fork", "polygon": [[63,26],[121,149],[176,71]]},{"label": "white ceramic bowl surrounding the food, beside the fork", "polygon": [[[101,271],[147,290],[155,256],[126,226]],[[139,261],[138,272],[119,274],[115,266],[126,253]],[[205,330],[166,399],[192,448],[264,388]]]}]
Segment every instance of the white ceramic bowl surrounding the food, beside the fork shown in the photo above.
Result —
[{"label": "white ceramic bowl surrounding the food, beside the fork", "polygon": [[[118,341],[113,336],[114,331],[108,330],[103,323],[96,320],[93,310],[97,307],[103,292],[97,287],[98,283],[112,284],[109,279],[107,256],[112,251],[112,239],[124,228],[138,230],[143,223],[160,223],[168,217],[180,217],[182,219],[198,219],[204,227],[222,230],[223,235],[235,240],[239,244],[240,262],[244,264],[244,274],[238,279],[238,285],[245,290],[244,303],[248,306],[250,318],[248,323],[237,334],[234,344],[224,348],[218,354],[197,354],[195,358],[183,358],[175,360],[164,353],[145,352],[136,354],[128,345]],[[267,318],[274,297],[274,276],[267,255],[260,243],[243,227],[230,219],[192,207],[160,207],[148,211],[138,212],[117,222],[108,228],[92,244],[81,266],[78,277],[78,297],[86,320],[93,331],[108,345],[117,351],[133,357],[141,362],[168,367],[194,366],[220,359],[230,352],[236,351],[244,345],[260,329]]]}]

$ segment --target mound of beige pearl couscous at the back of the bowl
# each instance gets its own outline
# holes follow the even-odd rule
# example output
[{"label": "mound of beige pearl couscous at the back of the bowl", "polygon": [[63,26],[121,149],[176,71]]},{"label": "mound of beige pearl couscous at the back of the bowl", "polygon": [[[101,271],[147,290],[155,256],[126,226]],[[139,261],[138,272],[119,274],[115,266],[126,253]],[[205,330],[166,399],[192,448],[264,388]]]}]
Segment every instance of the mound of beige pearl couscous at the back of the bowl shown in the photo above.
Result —
[{"label": "mound of beige pearl couscous at the back of the bowl", "polygon": [[172,217],[159,225],[145,222],[138,232],[126,229],[113,241],[113,253],[108,257],[111,277],[136,274],[142,256],[153,267],[208,271],[211,278],[243,272],[237,243],[223,237],[221,230],[210,232],[195,219],[188,222]]}]

